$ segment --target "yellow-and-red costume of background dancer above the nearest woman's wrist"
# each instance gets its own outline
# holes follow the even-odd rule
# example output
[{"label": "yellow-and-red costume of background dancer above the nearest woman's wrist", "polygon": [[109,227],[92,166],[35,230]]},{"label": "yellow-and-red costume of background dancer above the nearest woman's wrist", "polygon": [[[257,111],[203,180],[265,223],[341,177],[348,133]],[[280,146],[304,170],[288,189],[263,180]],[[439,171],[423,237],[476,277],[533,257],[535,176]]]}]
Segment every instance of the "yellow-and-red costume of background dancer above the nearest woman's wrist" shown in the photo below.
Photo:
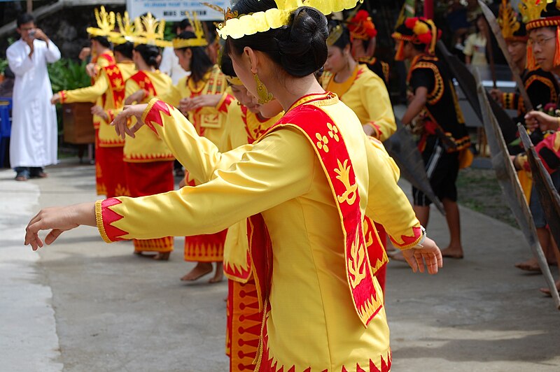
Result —
[{"label": "yellow-and-red costume of background dancer above the nearest woman's wrist", "polygon": [[[138,71],[126,82],[126,96],[138,90],[146,90],[150,96],[167,92],[172,80],[160,71]],[[139,103],[146,103],[144,102]],[[136,118],[132,118],[134,125]],[[125,140],[124,161],[127,187],[130,196],[160,194],[174,189],[174,156],[167,145],[153,131],[141,127],[136,137]],[[173,236],[150,239],[134,239],[135,252],[171,252]]]}]

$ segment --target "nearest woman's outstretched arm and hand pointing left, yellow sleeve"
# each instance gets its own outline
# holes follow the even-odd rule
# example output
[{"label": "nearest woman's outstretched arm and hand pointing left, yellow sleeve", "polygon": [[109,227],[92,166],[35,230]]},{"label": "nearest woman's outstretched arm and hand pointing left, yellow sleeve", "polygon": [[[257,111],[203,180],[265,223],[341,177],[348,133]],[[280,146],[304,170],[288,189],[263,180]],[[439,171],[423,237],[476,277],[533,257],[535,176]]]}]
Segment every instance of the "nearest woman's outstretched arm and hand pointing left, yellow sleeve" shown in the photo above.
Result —
[{"label": "nearest woman's outstretched arm and hand pointing left, yellow sleeve", "polygon": [[[286,151],[289,148],[290,151]],[[311,187],[314,155],[297,129],[269,134],[228,171],[197,187],[144,196],[119,197],[41,210],[29,223],[25,243],[43,245],[38,231],[51,230],[46,243],[79,224],[94,224],[108,241],[213,234],[244,218],[300,196]]]}]

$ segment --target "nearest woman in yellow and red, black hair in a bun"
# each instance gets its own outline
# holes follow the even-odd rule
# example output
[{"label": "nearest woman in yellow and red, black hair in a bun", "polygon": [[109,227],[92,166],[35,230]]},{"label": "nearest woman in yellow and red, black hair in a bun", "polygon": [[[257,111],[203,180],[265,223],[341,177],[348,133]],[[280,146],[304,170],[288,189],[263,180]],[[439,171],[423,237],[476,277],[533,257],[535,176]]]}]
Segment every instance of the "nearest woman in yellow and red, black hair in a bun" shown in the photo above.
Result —
[{"label": "nearest woman in yellow and red, black hair in a bun", "polygon": [[[253,145],[220,153],[172,106],[158,99],[131,106],[115,120],[120,134],[153,129],[178,159],[205,159],[190,171],[209,182],[47,208],[29,222],[25,243],[36,250],[39,230],[53,229],[45,238],[52,243],[79,224],[117,241],[214,233],[249,217],[251,272],[266,315],[255,371],[389,371],[388,326],[363,215],[384,224],[414,271],[436,273],[440,250],[414,217],[382,145],[354,129],[356,115],[313,75],[327,57],[325,16],[278,4],[241,0],[233,9],[241,17],[221,29],[248,91],[263,103],[274,95],[286,110],[276,126]],[[318,3],[324,13],[353,5]],[[141,120],[129,128],[131,115]]]}]

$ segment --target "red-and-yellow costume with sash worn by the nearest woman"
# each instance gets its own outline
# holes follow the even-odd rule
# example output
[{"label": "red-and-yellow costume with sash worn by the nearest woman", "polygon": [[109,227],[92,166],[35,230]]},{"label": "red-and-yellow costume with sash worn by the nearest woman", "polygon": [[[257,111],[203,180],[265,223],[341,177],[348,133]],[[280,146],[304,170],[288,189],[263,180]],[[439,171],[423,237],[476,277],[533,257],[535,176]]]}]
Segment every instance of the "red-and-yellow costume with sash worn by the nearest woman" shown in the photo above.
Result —
[{"label": "red-and-yellow costume with sash worn by the nearest woman", "polygon": [[266,313],[255,370],[389,371],[363,217],[384,224],[401,249],[423,234],[398,168],[379,141],[356,131],[351,110],[331,94],[304,96],[259,141],[225,153],[162,101],[150,102],[143,121],[178,159],[202,157],[190,171],[209,182],[97,202],[104,240],[211,234],[251,217],[251,272]]}]

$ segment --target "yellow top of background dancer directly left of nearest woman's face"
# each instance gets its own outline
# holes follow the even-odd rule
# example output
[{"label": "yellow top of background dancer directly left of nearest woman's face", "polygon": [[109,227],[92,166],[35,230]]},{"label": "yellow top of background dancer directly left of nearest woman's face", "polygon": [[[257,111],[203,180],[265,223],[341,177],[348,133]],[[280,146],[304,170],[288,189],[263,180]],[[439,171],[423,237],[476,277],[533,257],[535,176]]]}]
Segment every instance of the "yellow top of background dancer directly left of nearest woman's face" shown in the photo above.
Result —
[{"label": "yellow top of background dancer directly left of nearest woman's face", "polygon": [[195,83],[191,76],[185,76],[159,98],[179,107],[179,101],[183,98],[194,98],[204,94],[222,94],[222,99],[216,107],[203,107],[188,113],[188,120],[195,125],[198,134],[218,145],[225,129],[227,106],[233,100],[232,96],[226,94],[227,89],[225,75],[215,65],[199,82]]}]

